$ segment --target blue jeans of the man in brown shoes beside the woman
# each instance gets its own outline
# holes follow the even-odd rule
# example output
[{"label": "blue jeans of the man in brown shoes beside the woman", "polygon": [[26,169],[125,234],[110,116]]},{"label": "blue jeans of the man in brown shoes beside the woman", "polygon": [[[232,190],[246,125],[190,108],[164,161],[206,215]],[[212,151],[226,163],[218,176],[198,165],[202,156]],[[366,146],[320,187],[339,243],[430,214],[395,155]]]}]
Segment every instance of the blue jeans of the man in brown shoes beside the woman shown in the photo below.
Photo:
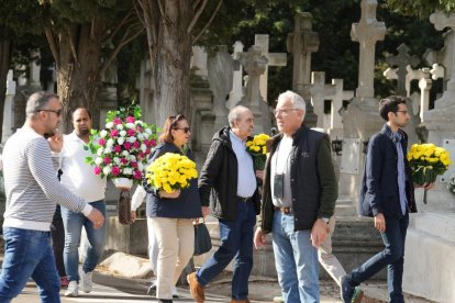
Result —
[{"label": "blue jeans of the man in brown shoes beside the woman", "polygon": [[235,221],[220,220],[219,223],[221,245],[198,270],[196,278],[201,285],[207,285],[235,257],[232,299],[246,300],[248,278],[253,269],[253,233],[256,224],[254,204],[237,202],[237,218]]}]

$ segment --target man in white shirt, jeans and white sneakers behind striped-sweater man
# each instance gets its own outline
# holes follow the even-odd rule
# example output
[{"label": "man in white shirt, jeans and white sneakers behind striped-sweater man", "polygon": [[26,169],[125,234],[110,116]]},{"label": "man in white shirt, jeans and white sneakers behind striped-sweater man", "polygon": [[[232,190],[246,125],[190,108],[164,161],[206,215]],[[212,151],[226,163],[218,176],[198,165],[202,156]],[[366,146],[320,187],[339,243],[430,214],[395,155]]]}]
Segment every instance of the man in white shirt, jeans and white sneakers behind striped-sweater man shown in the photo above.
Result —
[{"label": "man in white shirt, jeans and white sneakers behind striped-sweater man", "polygon": [[[91,156],[84,147],[90,138],[91,114],[87,109],[77,109],[73,113],[74,132],[65,135],[60,153],[60,182],[75,194],[82,197],[91,206],[106,216],[106,178],[95,175],[93,168],[86,164],[87,156]],[[68,277],[66,296],[79,295],[79,254],[80,234],[82,226],[87,232],[89,245],[86,260],[81,270],[82,291],[89,293],[92,289],[91,276],[97,267],[106,244],[106,225],[95,229],[91,222],[79,213],[62,207],[62,218],[65,226],[64,262]]]}]

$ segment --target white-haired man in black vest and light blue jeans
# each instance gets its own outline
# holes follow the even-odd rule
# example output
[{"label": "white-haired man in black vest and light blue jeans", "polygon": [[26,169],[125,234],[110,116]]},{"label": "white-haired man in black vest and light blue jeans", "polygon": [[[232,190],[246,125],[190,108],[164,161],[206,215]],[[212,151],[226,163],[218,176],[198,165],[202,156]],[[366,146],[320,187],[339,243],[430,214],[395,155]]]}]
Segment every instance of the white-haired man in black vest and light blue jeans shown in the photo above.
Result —
[{"label": "white-haired man in black vest and light blue jeans", "polygon": [[304,126],[303,99],[286,91],[274,111],[280,134],[267,143],[262,224],[256,248],[271,233],[285,302],[319,302],[318,248],[328,234],[337,183],[326,134]]}]

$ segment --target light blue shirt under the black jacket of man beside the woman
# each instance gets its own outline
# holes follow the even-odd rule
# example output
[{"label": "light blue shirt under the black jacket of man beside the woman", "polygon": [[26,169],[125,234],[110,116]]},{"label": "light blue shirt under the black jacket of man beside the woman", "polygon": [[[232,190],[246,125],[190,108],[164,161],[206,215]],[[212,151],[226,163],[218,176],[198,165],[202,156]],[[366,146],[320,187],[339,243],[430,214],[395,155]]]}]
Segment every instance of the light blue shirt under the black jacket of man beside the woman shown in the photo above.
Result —
[{"label": "light blue shirt under the black jacket of man beside the woman", "polygon": [[229,132],[229,138],[237,157],[237,195],[252,197],[257,187],[252,155],[246,152],[246,142],[237,137],[232,131]]}]

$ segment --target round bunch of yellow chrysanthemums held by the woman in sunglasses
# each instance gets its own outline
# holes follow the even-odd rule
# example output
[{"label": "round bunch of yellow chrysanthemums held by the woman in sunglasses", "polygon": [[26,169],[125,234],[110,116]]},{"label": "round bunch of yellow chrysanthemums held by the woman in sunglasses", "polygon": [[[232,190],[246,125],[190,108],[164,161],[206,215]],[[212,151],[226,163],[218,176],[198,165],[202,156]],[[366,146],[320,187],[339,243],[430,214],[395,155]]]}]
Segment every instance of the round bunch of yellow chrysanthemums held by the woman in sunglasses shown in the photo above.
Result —
[{"label": "round bunch of yellow chrysanthemums held by the woman in sunglasses", "polygon": [[146,168],[145,178],[151,187],[171,193],[188,188],[198,171],[187,156],[167,153]]}]

